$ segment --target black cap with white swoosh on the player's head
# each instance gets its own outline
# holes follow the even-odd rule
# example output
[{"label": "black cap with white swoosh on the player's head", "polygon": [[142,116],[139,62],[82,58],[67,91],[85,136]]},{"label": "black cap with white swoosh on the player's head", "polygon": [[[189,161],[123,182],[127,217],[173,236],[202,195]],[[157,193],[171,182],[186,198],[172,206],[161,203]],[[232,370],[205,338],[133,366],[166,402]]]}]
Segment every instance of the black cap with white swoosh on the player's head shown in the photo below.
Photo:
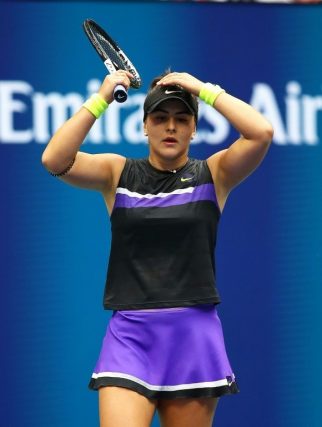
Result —
[{"label": "black cap with white swoosh on the player's head", "polygon": [[146,119],[147,114],[152,113],[156,109],[156,107],[161,104],[163,101],[167,101],[168,99],[179,99],[182,101],[189,109],[191,114],[195,116],[196,122],[198,120],[198,101],[197,99],[191,95],[190,92],[182,89],[180,86],[155,86],[151,91],[147,94],[145,98],[143,110],[144,110],[144,118]]}]

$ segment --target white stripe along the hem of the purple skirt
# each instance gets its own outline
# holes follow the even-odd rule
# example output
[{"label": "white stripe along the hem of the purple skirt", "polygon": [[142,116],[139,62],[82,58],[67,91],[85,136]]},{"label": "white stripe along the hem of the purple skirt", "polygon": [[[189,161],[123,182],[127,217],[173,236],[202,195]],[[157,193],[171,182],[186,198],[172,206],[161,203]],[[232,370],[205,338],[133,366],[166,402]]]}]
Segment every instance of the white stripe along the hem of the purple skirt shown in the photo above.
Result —
[{"label": "white stripe along the hem of the purple skirt", "polygon": [[222,387],[229,385],[228,380],[208,381],[202,383],[191,383],[191,384],[179,384],[179,385],[151,385],[140,378],[134,377],[133,375],[124,374],[122,372],[99,372],[98,374],[93,373],[92,378],[124,378],[126,380],[134,381],[141,384],[143,387],[153,391],[176,391],[176,390],[189,390],[205,387]]}]

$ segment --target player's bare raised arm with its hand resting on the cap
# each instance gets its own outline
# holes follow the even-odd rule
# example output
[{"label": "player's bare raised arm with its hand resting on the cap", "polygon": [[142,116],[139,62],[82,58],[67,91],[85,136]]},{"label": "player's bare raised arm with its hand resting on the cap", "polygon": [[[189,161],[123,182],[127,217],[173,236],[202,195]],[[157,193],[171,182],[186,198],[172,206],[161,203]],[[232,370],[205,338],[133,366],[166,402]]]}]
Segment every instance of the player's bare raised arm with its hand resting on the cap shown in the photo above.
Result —
[{"label": "player's bare raised arm with its hand resting on the cap", "polygon": [[[205,89],[205,83],[187,73],[171,73],[159,84],[179,84],[196,96]],[[240,133],[229,148],[210,156],[207,161],[212,172],[219,205],[223,208],[229,192],[250,175],[261,163],[270,146],[273,128],[253,107],[224,92],[218,86],[209,86],[215,100],[212,106]],[[218,96],[216,97],[216,94]],[[207,94],[206,94],[207,95]],[[207,97],[207,96],[206,96]],[[208,97],[211,102],[211,94]]]}]

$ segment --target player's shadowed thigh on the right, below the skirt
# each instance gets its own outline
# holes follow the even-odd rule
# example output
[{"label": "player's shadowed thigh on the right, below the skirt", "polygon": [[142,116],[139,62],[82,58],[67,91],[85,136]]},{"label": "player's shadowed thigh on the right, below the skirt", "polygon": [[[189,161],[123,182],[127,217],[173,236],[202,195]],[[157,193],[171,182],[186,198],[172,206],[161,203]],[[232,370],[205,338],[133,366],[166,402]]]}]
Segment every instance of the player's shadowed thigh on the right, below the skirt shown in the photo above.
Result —
[{"label": "player's shadowed thigh on the right, below the skirt", "polygon": [[211,427],[217,398],[160,399],[158,413],[162,427]]}]

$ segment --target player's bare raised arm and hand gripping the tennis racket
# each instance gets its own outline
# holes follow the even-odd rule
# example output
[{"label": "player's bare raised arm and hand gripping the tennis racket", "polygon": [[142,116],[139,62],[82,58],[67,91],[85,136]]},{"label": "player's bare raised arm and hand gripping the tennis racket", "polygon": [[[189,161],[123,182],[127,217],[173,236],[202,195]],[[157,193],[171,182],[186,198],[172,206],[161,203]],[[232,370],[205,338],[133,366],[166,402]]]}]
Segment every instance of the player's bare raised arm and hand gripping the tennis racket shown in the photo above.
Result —
[{"label": "player's bare raised arm and hand gripping the tennis racket", "polygon": [[[128,88],[129,73],[117,71],[108,75],[100,90],[100,99],[113,102],[117,84]],[[116,154],[87,154],[79,149],[96,117],[84,106],[53,135],[42,155],[42,163],[63,181],[82,188],[102,192],[113,186],[113,178],[123,168],[125,158]]]}]

